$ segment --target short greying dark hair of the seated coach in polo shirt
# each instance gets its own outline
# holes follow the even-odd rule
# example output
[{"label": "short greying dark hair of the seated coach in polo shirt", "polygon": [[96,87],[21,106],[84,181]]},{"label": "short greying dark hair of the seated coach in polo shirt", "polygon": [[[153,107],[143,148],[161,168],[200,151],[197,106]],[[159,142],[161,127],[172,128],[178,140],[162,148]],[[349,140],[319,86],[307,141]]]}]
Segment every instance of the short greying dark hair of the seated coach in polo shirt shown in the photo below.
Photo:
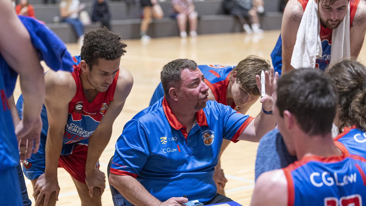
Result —
[{"label": "short greying dark hair of the seated coach in polo shirt", "polygon": [[181,80],[181,72],[184,69],[191,71],[197,69],[197,63],[189,59],[176,59],[167,63],[160,73],[161,84],[163,85],[165,95],[168,95],[171,87],[179,88],[177,83]]}]

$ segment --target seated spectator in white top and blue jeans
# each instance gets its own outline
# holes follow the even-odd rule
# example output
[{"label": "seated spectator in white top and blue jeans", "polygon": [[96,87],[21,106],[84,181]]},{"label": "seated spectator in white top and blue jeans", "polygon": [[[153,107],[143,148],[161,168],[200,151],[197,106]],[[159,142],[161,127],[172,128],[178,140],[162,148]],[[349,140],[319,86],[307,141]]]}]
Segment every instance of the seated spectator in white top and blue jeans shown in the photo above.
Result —
[{"label": "seated spectator in white top and blue jeans", "polygon": [[85,7],[79,0],[62,0],[60,3],[60,14],[63,22],[70,23],[78,37],[79,44],[82,44],[84,26],[80,21],[79,12]]}]

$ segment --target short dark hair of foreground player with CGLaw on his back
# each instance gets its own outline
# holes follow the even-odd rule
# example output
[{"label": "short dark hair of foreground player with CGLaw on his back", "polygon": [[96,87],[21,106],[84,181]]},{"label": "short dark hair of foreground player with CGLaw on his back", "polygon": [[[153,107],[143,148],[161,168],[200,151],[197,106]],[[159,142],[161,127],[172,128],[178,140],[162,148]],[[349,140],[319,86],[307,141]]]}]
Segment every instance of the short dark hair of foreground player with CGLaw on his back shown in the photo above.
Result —
[{"label": "short dark hair of foreground player with CGLaw on his back", "polygon": [[337,93],[328,74],[318,69],[293,70],[277,82],[276,106],[281,117],[285,110],[294,114],[305,133],[324,135],[332,129]]}]

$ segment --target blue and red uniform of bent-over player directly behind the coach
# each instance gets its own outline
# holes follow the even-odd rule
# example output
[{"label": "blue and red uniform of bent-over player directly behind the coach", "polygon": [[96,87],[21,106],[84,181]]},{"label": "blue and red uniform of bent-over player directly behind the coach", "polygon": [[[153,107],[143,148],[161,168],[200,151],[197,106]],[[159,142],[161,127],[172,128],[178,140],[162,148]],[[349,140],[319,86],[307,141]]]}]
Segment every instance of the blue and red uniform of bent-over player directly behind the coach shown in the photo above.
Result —
[{"label": "blue and red uniform of bent-over player directly behind the coach", "polygon": [[[198,69],[201,70],[205,76],[205,83],[212,91],[217,102],[227,105],[226,102],[226,90],[230,81],[231,70],[235,66],[223,66],[223,65],[198,65]],[[150,100],[152,106],[157,100],[164,96],[164,89],[161,82],[154,91],[153,97]],[[235,108],[235,103],[231,105]]]}]

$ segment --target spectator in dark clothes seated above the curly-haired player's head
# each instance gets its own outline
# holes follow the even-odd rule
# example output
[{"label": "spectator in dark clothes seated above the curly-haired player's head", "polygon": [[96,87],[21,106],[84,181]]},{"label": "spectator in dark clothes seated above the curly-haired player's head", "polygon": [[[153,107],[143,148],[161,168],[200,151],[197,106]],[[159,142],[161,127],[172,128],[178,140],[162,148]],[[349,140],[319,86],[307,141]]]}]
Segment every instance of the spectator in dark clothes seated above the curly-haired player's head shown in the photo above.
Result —
[{"label": "spectator in dark clothes seated above the curly-haired player's head", "polygon": [[111,14],[106,0],[95,0],[93,5],[93,12],[91,13],[92,22],[101,22],[102,27],[105,26],[111,30],[109,21],[111,20]]}]

